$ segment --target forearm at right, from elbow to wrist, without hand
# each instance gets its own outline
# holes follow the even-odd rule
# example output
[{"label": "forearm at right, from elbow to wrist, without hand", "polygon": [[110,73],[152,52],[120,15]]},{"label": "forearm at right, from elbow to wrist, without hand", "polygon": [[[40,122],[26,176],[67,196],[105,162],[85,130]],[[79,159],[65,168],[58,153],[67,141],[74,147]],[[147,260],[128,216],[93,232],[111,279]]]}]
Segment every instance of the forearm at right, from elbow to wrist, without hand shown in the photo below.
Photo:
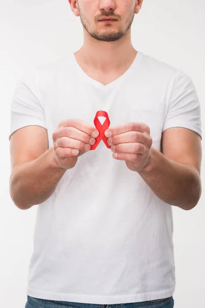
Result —
[{"label": "forearm at right, from elbow to wrist, without hand", "polygon": [[199,201],[201,180],[197,169],[172,161],[154,148],[148,166],[138,174],[168,204],[188,210]]}]

